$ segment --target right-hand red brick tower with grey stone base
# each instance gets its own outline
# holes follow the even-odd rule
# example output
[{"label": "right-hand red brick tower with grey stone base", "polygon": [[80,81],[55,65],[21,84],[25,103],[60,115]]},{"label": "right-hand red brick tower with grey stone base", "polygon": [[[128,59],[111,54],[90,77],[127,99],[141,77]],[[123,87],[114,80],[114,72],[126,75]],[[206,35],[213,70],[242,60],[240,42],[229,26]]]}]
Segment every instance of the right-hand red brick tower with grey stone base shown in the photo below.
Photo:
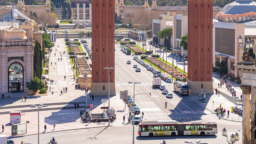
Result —
[{"label": "right-hand red brick tower with grey stone base", "polygon": [[190,94],[212,90],[212,0],[188,0],[188,86]]}]

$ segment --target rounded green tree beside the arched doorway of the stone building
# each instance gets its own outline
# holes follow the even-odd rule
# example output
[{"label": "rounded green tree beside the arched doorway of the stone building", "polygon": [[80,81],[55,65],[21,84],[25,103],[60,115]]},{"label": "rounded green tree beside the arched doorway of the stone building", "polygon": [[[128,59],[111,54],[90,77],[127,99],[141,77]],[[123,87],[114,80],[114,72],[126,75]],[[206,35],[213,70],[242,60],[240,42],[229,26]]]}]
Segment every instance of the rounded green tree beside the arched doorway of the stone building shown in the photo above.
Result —
[{"label": "rounded green tree beside the arched doorway of the stone building", "polygon": [[31,78],[30,82],[26,82],[26,87],[29,90],[33,90],[33,93],[36,94],[38,90],[44,88],[44,82],[39,78],[34,77],[34,78]]}]

